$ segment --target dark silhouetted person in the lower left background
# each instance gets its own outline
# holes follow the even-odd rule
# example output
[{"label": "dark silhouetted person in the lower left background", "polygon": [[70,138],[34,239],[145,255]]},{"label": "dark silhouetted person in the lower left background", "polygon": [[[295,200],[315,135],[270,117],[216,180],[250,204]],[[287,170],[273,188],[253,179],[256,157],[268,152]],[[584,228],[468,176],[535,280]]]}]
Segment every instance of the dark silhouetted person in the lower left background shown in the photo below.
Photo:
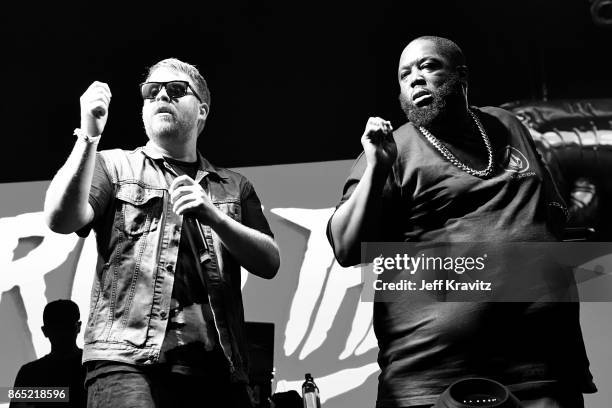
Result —
[{"label": "dark silhouetted person in the lower left background", "polygon": [[41,329],[51,343],[51,352],[24,364],[17,373],[14,387],[69,387],[68,402],[14,399],[10,408],[85,407],[83,350],[76,344],[76,336],[81,331],[79,307],[67,299],[50,302],[43,311],[43,324]]}]

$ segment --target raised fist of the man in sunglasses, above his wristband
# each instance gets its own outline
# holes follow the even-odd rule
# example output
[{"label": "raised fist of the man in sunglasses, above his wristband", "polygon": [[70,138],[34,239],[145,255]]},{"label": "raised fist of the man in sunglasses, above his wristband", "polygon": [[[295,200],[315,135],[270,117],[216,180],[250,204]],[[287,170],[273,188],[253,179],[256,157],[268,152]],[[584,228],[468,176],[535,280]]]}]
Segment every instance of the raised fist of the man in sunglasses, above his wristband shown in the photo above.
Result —
[{"label": "raised fist of the man in sunglasses, above his wristband", "polygon": [[81,95],[81,129],[89,136],[99,136],[104,131],[111,96],[108,85],[98,81]]}]

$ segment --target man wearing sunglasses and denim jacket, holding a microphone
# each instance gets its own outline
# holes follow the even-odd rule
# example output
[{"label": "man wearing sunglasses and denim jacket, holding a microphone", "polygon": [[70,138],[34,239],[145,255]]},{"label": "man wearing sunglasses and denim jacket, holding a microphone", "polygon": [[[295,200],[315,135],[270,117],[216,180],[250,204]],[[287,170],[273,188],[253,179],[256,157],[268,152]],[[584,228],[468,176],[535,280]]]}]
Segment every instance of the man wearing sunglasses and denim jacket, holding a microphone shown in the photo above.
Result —
[{"label": "man wearing sunglasses and denim jacket, holding a microphone", "polygon": [[50,228],[93,228],[103,260],[85,329],[88,406],[249,406],[240,267],[270,279],[278,248],[251,183],[197,150],[210,110],[198,70],[160,61],[140,92],[146,146],[97,152],[111,92],[91,84],[45,199]]}]

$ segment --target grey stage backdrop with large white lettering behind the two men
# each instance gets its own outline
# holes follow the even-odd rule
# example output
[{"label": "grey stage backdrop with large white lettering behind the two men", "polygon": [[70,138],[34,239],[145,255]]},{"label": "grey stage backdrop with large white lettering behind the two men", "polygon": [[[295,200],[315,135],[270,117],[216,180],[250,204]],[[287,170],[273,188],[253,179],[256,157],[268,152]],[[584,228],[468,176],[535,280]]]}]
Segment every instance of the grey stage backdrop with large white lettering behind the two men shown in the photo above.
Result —
[{"label": "grey stage backdrop with large white lettering behind the two men", "polygon": [[[237,169],[255,185],[282,256],[274,280],[243,271],[248,321],[275,325],[273,390],[300,390],[313,374],[326,408],[373,407],[377,346],[372,304],[360,301],[358,268],[342,268],[325,227],[350,161]],[[48,181],[0,185],[0,387],[19,367],[49,352],[42,310],[72,298],[88,315],[96,264],[95,239],[59,235],[42,218]],[[587,406],[612,401],[612,303],[582,305],[582,324],[598,394]],[[79,337],[82,347],[82,333]],[[0,400],[0,408],[6,400]]]}]

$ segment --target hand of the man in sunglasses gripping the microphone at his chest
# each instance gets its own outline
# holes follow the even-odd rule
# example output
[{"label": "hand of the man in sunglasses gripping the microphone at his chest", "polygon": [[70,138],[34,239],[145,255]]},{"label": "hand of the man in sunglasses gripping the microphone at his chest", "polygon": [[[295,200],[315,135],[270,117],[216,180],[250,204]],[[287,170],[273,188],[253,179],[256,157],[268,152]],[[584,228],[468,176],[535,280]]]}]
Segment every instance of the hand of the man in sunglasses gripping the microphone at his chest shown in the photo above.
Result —
[{"label": "hand of the man in sunglasses gripping the microphone at his chest", "polygon": [[221,212],[202,186],[189,176],[174,179],[170,186],[170,202],[176,214],[194,215],[202,224],[214,226],[221,220]]}]

